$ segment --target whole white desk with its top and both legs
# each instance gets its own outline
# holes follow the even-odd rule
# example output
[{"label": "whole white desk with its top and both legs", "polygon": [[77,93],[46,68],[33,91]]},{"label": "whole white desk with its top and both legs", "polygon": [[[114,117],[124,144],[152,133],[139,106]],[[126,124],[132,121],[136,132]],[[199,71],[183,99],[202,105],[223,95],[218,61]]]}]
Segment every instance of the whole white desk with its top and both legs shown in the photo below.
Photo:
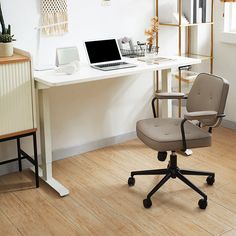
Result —
[{"label": "whole white desk with its top and both legs", "polygon": [[[100,71],[89,67],[87,64],[81,65],[80,70],[73,75],[57,74],[54,71],[35,72],[36,87],[39,90],[39,117],[40,117],[40,140],[42,166],[40,168],[40,177],[54,188],[60,196],[69,194],[69,190],[61,185],[52,176],[52,137],[50,125],[50,106],[48,90],[52,87],[85,83],[95,80],[110,79],[115,77],[138,74],[147,71],[162,72],[162,89],[171,91],[171,69],[179,66],[193,65],[201,63],[199,59],[172,57],[174,60],[161,62],[160,64],[147,65],[136,59],[127,59],[127,61],[137,64],[137,67],[113,71]],[[166,107],[167,116],[171,115],[171,104]]]}]

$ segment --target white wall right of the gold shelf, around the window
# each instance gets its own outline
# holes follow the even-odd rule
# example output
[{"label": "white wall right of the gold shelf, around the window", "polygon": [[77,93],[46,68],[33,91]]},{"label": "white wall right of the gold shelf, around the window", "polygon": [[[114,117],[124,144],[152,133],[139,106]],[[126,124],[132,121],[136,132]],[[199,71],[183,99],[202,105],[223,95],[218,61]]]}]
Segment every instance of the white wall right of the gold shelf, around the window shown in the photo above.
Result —
[{"label": "white wall right of the gold shelf, around the window", "polygon": [[223,12],[224,4],[220,1],[215,1],[214,73],[223,76],[230,82],[226,119],[236,122],[236,42],[235,44],[228,44],[221,41],[224,23]]}]

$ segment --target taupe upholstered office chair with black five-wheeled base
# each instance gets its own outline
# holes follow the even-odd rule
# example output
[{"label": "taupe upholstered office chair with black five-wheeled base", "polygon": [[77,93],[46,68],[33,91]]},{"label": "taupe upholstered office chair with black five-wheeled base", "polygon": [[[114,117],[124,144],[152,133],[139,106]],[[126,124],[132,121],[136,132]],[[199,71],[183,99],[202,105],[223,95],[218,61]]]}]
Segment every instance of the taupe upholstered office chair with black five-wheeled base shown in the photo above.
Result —
[{"label": "taupe upholstered office chair with black five-wheeled base", "polygon": [[[199,74],[189,92],[184,118],[151,118],[140,120],[136,124],[138,138],[148,147],[158,151],[158,160],[165,161],[167,151],[171,151],[170,161],[166,169],[133,171],[128,179],[128,185],[135,184],[135,175],[164,175],[163,179],[152,189],[143,200],[145,208],[152,206],[152,195],[161,188],[170,178],[179,178],[202,198],[199,208],[207,207],[207,195],[190,182],[185,175],[207,176],[208,185],[215,182],[215,173],[180,169],[177,166],[176,151],[187,148],[200,148],[211,146],[212,128],[218,127],[223,119],[229,83],[223,78]],[[181,95],[182,96],[182,95]],[[191,121],[198,120],[201,126]],[[208,131],[205,128],[208,127]]]}]

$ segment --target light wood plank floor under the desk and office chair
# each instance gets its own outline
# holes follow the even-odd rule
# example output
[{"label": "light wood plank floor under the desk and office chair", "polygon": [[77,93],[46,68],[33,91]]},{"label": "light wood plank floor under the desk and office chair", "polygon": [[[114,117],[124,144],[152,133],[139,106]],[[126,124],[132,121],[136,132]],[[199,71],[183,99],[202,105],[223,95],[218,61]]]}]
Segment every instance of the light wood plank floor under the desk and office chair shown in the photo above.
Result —
[{"label": "light wood plank floor under the desk and office chair", "polygon": [[[162,168],[156,152],[133,140],[53,163],[54,176],[70,190],[60,198],[41,182],[34,189],[29,170],[0,178],[0,235],[236,235],[236,132],[220,128],[213,146],[179,156],[179,166],[216,172],[216,183],[190,177],[208,195],[200,196],[171,179],[156,193],[151,209],[142,201],[160,177],[136,177],[131,170]],[[15,188],[24,191],[10,191]]]}]

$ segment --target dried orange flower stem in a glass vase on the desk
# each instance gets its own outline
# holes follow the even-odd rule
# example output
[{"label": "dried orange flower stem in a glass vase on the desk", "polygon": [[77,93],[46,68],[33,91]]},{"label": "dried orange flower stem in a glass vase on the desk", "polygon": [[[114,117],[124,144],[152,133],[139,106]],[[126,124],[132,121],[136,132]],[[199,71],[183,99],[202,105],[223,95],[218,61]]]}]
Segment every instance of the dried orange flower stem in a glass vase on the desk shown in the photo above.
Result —
[{"label": "dried orange flower stem in a glass vase on the desk", "polygon": [[158,26],[159,26],[159,21],[157,16],[155,16],[151,19],[151,27],[145,30],[145,35],[148,36],[146,44],[146,54],[145,54],[147,64],[153,63],[153,58],[158,51],[157,47],[154,45],[155,39],[157,37],[157,32],[159,29]]}]

